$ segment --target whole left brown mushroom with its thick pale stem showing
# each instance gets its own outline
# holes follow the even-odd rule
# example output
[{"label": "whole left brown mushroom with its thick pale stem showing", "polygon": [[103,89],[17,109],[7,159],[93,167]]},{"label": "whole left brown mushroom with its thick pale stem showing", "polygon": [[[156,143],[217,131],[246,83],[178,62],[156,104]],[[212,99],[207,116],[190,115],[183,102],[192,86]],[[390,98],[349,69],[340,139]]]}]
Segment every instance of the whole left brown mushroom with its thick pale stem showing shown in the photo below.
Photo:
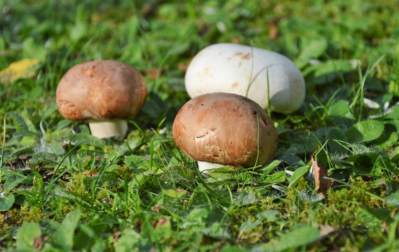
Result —
[{"label": "whole left brown mushroom with its thick pale stem showing", "polygon": [[59,113],[73,121],[88,119],[91,135],[124,137],[127,119],[141,109],[147,84],[134,67],[115,60],[93,60],[73,66],[58,83]]}]

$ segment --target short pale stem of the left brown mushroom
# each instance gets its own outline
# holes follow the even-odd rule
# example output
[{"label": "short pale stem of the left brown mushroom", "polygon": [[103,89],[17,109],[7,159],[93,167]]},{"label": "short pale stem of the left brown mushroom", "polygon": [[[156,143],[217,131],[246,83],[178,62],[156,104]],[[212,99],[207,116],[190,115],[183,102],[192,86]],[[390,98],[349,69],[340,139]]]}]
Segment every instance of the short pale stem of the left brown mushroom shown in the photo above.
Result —
[{"label": "short pale stem of the left brown mushroom", "polygon": [[109,138],[115,136],[123,138],[127,133],[127,122],[124,119],[90,119],[89,127],[91,135],[98,138]]}]

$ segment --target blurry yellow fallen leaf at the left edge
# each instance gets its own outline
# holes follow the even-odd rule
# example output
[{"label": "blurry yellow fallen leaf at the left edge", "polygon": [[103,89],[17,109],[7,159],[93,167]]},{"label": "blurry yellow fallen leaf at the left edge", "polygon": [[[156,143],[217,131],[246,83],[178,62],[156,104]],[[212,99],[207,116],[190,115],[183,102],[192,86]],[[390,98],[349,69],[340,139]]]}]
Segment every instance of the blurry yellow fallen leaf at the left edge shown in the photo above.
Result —
[{"label": "blurry yellow fallen leaf at the left edge", "polygon": [[36,75],[34,67],[37,65],[39,65],[39,61],[36,59],[22,59],[13,62],[0,71],[0,82],[11,83],[20,78],[33,78]]}]

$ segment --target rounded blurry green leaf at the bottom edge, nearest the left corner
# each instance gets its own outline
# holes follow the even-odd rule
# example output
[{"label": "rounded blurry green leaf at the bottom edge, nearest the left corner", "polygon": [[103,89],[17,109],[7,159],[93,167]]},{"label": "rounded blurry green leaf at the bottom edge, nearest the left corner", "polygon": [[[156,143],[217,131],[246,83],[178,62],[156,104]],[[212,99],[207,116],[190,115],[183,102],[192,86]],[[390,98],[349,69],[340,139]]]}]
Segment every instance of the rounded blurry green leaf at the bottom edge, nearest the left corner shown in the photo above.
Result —
[{"label": "rounded blurry green leaf at the bottom edge, nearest the left corner", "polygon": [[17,251],[36,251],[34,242],[41,237],[41,231],[38,224],[30,222],[22,226],[16,237]]}]

